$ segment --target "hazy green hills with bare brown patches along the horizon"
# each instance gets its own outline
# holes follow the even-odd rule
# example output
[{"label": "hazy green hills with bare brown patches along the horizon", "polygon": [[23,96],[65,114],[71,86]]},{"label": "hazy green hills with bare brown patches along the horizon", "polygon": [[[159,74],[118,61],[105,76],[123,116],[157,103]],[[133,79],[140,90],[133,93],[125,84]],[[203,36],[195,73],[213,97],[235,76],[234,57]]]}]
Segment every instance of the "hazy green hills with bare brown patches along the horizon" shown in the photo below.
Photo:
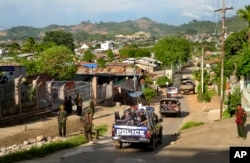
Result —
[{"label": "hazy green hills with bare brown patches along the horizon", "polygon": [[[226,21],[227,31],[239,31],[247,27],[247,23],[237,16],[228,18]],[[46,32],[52,30],[64,30],[73,33],[75,40],[104,40],[112,39],[115,35],[130,35],[139,31],[149,32],[154,37],[161,37],[171,34],[197,34],[216,33],[221,30],[221,22],[197,21],[193,20],[180,26],[167,25],[155,22],[143,17],[138,20],[128,20],[124,22],[100,22],[91,23],[83,21],[78,25],[59,26],[49,25],[44,28],[34,28],[27,26],[17,26],[8,30],[0,31],[1,40],[22,40],[27,37],[41,39]]]}]

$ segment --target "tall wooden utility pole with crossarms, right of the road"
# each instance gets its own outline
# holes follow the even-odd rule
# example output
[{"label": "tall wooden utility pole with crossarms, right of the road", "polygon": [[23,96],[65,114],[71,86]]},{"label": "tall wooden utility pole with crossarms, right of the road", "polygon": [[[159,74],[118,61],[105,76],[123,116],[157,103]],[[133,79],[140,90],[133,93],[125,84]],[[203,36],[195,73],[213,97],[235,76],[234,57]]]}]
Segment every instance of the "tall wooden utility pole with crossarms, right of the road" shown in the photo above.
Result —
[{"label": "tall wooden utility pole with crossarms, right of the road", "polygon": [[224,101],[224,42],[225,42],[225,19],[226,19],[226,10],[232,10],[233,7],[226,8],[225,0],[222,0],[222,8],[215,10],[215,12],[220,11],[222,14],[222,30],[221,30],[221,81],[220,81],[220,119],[222,119],[223,111],[223,101]]}]

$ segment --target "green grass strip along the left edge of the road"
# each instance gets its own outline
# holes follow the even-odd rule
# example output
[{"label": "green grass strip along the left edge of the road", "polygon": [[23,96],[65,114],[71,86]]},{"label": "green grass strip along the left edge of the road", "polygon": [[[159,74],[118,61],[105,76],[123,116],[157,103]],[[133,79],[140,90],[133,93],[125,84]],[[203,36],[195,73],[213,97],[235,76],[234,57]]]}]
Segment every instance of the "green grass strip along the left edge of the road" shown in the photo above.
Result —
[{"label": "green grass strip along the left edge of the road", "polygon": [[[100,136],[103,136],[107,132],[107,128],[107,125],[100,125],[94,127],[94,129],[98,129]],[[86,139],[83,135],[73,136],[62,141],[44,144],[41,147],[33,146],[28,150],[18,151],[8,155],[4,155],[0,157],[0,162],[13,163],[41,158],[61,150],[80,146],[84,143],[86,143]]]}]

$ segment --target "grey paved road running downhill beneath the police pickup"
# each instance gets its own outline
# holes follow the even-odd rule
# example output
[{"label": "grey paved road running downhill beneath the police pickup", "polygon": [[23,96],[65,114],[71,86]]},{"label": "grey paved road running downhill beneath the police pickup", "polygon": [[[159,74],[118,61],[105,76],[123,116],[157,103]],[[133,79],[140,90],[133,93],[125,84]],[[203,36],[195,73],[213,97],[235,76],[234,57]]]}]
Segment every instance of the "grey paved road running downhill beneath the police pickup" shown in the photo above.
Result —
[{"label": "grey paved road running downhill beneath the police pickup", "polygon": [[[181,99],[184,106],[186,102]],[[157,106],[157,105],[156,105]],[[158,107],[156,107],[158,112]],[[188,107],[183,107],[181,117],[163,117],[163,143],[158,145],[154,152],[145,150],[141,146],[125,145],[122,149],[115,149],[110,136],[102,137],[96,144],[85,144],[80,147],[64,150],[50,156],[40,158],[33,161],[25,162],[39,162],[39,163],[72,163],[72,162],[87,162],[87,163],[146,163],[154,162],[165,163],[169,161],[165,155],[168,153],[168,146],[171,142],[177,139],[174,135],[183,119],[188,115]]]}]

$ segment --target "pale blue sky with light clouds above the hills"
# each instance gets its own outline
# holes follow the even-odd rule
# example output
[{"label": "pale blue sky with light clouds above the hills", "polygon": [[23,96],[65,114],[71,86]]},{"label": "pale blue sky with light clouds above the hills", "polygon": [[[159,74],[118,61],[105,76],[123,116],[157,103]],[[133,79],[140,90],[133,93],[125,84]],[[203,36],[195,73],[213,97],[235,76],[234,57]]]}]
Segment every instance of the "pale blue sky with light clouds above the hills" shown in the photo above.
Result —
[{"label": "pale blue sky with light clouds above the hills", "polygon": [[[148,17],[169,25],[181,25],[191,20],[217,22],[223,0],[1,0],[0,30],[15,26],[46,27],[92,23],[122,22]],[[237,9],[250,5],[249,0],[225,0],[226,17]]]}]

